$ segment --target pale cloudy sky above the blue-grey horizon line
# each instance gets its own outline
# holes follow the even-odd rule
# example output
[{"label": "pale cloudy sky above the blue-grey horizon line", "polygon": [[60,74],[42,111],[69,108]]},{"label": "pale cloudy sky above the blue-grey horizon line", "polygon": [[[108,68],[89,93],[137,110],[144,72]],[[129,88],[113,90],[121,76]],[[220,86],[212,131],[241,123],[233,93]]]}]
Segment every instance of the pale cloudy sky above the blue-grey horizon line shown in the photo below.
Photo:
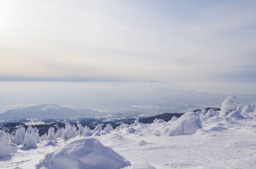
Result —
[{"label": "pale cloudy sky above the blue-grey horizon line", "polygon": [[256,82],[256,1],[0,1],[0,80]]}]

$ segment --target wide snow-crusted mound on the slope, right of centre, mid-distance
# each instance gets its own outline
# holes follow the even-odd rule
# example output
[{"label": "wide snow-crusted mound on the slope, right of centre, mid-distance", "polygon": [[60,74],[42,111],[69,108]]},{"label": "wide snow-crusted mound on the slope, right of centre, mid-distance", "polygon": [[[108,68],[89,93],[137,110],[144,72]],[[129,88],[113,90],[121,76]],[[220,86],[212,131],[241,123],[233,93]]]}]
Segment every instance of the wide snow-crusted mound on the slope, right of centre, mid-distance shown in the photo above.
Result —
[{"label": "wide snow-crusted mound on the slope, right of centre, mid-distance", "polygon": [[168,135],[193,135],[197,129],[202,128],[200,115],[195,112],[188,112],[182,115],[177,121],[170,121]]}]

